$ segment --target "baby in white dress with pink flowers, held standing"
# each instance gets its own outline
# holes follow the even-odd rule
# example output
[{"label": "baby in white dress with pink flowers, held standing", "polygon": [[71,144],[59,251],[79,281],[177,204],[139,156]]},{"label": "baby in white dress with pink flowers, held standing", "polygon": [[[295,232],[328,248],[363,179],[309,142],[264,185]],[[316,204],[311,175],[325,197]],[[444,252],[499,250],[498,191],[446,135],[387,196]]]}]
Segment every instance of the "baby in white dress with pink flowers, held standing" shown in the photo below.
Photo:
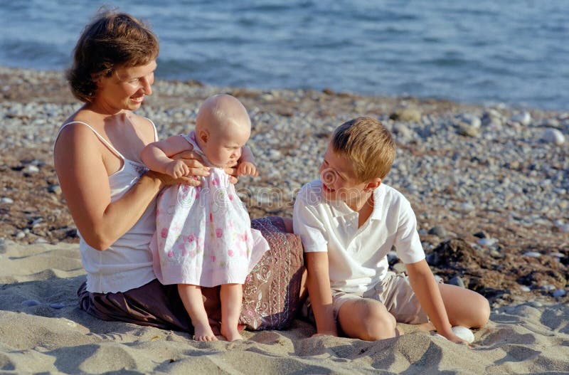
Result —
[{"label": "baby in white dress with pink flowers, held standing", "polygon": [[216,340],[200,288],[216,285],[221,285],[221,334],[228,341],[242,339],[242,285],[269,248],[261,233],[251,228],[224,170],[237,163],[239,175],[257,176],[252,152],[245,146],[250,133],[245,107],[231,95],[213,95],[201,105],[195,131],[151,143],[141,154],[149,169],[175,179],[188,176],[190,170],[171,157],[191,147],[210,167],[201,186],[179,184],[159,194],[150,245],[154,273],[163,284],[178,284],[198,341]]}]

